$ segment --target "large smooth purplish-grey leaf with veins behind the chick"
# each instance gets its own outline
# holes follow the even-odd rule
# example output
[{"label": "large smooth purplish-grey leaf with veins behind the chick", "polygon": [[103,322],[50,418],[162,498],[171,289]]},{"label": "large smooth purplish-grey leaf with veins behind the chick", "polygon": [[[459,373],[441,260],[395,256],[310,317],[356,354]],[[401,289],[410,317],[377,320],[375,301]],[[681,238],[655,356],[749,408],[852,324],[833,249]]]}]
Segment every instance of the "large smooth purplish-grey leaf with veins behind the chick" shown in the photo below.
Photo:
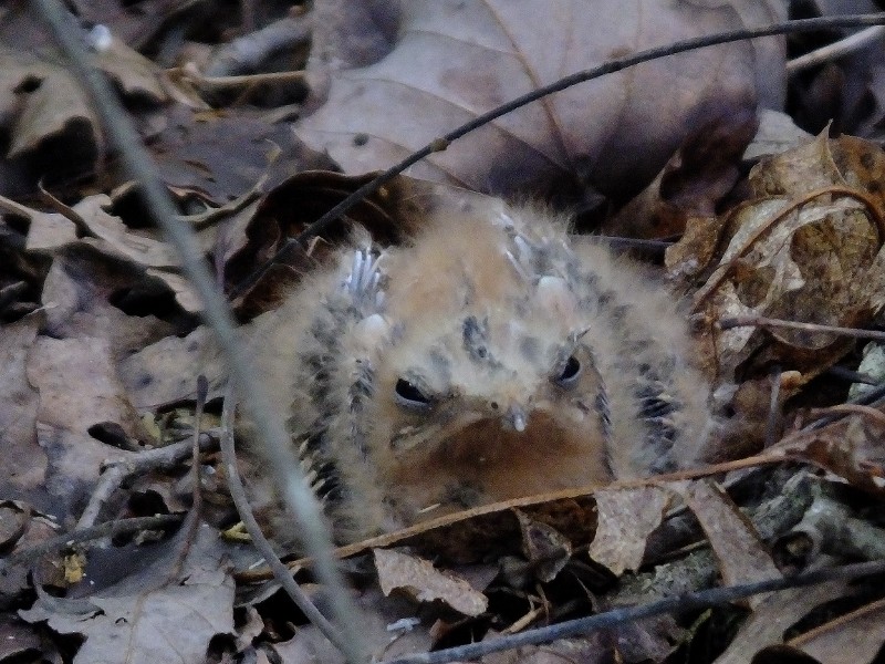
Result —
[{"label": "large smooth purplish-grey leaf with veins behind the chick", "polygon": [[[403,159],[479,114],[642,49],[785,18],[777,2],[666,0],[404,3],[379,62],[332,72],[329,98],[296,128],[345,173]],[[673,91],[678,90],[678,94]],[[519,108],[416,164],[409,175],[516,193],[552,181],[635,193],[698,118],[779,107],[783,48],[740,42],[643,64]]]}]

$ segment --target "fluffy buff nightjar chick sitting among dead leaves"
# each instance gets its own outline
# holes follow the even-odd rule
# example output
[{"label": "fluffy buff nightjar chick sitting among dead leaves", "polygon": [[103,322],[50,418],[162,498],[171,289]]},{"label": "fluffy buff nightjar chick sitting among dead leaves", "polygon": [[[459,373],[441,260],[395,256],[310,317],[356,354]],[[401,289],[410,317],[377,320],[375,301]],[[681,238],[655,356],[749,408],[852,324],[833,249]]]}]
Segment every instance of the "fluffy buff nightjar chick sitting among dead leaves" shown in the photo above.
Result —
[{"label": "fluffy buff nightjar chick sitting among dead leaves", "polygon": [[671,294],[500,201],[358,237],[254,342],[341,540],[685,467],[708,428]]}]

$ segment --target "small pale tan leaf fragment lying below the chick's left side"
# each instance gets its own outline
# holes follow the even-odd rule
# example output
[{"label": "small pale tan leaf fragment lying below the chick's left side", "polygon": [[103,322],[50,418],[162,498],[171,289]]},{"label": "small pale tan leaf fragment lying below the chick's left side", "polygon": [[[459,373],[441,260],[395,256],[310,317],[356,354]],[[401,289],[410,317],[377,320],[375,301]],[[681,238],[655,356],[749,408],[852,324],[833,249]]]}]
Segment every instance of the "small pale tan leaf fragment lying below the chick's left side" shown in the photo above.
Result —
[{"label": "small pale tan leaf fragment lying below the chick's left side", "polygon": [[375,568],[382,592],[405,592],[418,602],[440,600],[464,613],[476,616],[486,611],[489,600],[451,572],[440,572],[421,558],[392,549],[375,549]]}]

